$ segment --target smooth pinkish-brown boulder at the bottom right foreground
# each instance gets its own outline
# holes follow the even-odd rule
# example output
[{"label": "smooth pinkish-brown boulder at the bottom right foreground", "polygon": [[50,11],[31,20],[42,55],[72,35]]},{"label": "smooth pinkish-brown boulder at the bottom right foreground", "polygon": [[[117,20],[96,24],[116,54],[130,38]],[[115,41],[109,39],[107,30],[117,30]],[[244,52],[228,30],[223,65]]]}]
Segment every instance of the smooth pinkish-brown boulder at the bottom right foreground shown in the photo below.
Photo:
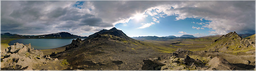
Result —
[{"label": "smooth pinkish-brown boulder at the bottom right foreground", "polygon": [[208,70],[244,70],[234,66],[233,64],[230,64],[227,60],[218,57],[212,58],[208,64],[210,65]]}]

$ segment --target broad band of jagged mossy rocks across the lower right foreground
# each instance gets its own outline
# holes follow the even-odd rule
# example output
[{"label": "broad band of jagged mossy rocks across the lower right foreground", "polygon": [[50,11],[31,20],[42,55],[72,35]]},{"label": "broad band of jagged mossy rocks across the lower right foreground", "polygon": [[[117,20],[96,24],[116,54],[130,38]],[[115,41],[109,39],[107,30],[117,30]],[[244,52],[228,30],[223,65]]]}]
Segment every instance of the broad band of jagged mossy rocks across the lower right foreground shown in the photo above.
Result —
[{"label": "broad band of jagged mossy rocks across the lower right foreground", "polygon": [[142,70],[245,70],[219,57],[189,55],[191,51],[177,49],[174,53],[154,59],[146,58]]}]

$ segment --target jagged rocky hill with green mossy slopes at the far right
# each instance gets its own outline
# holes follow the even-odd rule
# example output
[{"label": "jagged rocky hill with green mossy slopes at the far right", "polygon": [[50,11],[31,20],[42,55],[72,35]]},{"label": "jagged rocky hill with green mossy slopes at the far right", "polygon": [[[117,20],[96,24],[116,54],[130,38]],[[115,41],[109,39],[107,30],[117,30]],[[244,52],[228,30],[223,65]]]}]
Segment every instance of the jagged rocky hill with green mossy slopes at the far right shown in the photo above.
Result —
[{"label": "jagged rocky hill with green mossy slopes at the far right", "polygon": [[236,32],[230,32],[214,40],[208,48],[208,51],[226,52],[245,51],[252,48],[255,50],[255,43],[252,39],[242,39]]}]

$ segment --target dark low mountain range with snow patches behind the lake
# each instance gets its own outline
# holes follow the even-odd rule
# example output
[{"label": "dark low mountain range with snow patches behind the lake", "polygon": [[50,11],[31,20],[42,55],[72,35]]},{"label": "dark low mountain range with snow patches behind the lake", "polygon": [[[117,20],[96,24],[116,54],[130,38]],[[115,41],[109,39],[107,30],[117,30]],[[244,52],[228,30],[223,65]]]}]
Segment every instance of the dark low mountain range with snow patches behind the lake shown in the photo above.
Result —
[{"label": "dark low mountain range with snow patches behind the lake", "polygon": [[10,33],[4,33],[1,34],[1,38],[23,38],[23,39],[73,39],[73,38],[80,38],[85,39],[85,37],[77,36],[70,34],[68,32],[60,32],[60,33],[53,33],[53,34],[46,34],[46,35],[38,35],[38,36],[30,36],[30,35],[18,35],[18,34],[10,34]]}]

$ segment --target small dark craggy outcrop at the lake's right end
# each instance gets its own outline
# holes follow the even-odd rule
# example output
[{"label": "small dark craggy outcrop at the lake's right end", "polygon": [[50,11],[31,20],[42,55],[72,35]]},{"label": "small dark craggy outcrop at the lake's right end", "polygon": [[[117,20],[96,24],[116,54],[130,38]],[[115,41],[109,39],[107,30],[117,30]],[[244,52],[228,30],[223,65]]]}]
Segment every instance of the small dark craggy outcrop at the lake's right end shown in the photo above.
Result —
[{"label": "small dark craggy outcrop at the lake's right end", "polygon": [[70,46],[66,47],[65,51],[66,50],[69,50],[69,49],[72,49],[72,48],[76,48],[78,46],[80,46],[82,44],[82,40],[77,38],[76,40],[72,40]]}]

